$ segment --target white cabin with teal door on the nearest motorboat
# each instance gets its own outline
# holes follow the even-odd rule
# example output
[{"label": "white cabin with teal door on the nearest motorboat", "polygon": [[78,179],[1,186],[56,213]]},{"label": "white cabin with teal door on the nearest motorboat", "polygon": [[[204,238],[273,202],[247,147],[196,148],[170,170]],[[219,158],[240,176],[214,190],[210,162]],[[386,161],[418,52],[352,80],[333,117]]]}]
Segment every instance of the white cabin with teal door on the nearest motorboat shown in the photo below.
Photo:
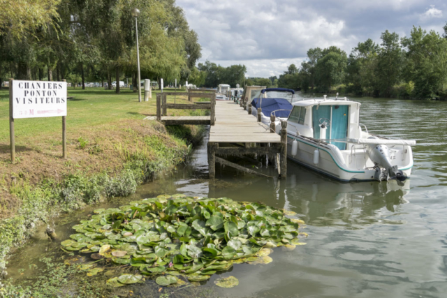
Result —
[{"label": "white cabin with teal door on the nearest motorboat", "polygon": [[[288,116],[288,133],[299,133],[335,145],[340,150],[349,150],[353,144],[347,138],[362,135],[359,124],[360,103],[348,100],[308,99],[293,103]],[[337,142],[344,140],[344,142]]]}]

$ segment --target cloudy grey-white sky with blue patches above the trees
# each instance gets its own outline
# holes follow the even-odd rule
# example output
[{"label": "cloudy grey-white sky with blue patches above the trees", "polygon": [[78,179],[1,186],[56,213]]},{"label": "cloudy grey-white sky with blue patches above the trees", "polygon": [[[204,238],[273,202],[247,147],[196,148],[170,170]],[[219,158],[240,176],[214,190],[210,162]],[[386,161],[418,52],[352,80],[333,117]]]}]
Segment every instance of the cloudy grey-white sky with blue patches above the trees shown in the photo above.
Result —
[{"label": "cloudy grey-white sky with blue patches above the trees", "polygon": [[383,31],[409,36],[414,26],[444,33],[447,1],[177,0],[202,45],[199,62],[244,64],[247,77],[280,75],[300,66],[312,47],[381,43]]}]

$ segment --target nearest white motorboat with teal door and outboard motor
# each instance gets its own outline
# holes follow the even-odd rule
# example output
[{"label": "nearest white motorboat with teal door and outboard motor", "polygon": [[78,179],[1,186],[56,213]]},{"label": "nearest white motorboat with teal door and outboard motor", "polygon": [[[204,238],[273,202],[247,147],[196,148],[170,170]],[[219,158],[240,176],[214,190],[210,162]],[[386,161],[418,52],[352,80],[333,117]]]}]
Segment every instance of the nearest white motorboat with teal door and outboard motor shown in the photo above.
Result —
[{"label": "nearest white motorboat with teal door and outboard motor", "polygon": [[326,96],[298,101],[287,119],[287,156],[342,181],[409,178],[416,141],[390,140],[364,128],[360,103]]}]

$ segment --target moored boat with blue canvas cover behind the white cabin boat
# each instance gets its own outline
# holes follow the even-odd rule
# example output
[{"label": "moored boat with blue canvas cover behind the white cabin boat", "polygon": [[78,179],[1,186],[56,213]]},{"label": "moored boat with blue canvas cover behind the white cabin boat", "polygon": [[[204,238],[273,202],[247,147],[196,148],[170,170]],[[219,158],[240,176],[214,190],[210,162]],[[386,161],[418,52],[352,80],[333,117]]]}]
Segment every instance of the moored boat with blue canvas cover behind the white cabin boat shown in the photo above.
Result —
[{"label": "moored boat with blue canvas cover behind the white cabin boat", "polygon": [[286,121],[292,110],[295,91],[286,88],[266,88],[258,91],[251,100],[251,114],[258,117],[258,108],[261,108],[261,122],[270,126],[270,116],[275,116],[277,133],[281,121]]}]

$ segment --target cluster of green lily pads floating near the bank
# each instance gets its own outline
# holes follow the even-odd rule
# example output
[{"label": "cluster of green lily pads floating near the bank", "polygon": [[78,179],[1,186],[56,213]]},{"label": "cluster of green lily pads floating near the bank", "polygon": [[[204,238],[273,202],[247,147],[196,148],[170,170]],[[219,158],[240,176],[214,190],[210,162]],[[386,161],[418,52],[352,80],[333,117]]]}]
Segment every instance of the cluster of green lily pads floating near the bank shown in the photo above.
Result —
[{"label": "cluster of green lily pads floating near the bank", "polygon": [[[271,248],[302,244],[298,228],[304,222],[290,218],[295,213],[228,198],[160,195],[94,213],[73,226],[77,234],[61,246],[138,269],[133,277],[111,278],[108,284],[115,287],[138,282],[142,275],[156,277],[159,285],[184,283],[180,277],[206,281],[233,264],[272,262]],[[233,279],[230,284],[237,285]]]}]

